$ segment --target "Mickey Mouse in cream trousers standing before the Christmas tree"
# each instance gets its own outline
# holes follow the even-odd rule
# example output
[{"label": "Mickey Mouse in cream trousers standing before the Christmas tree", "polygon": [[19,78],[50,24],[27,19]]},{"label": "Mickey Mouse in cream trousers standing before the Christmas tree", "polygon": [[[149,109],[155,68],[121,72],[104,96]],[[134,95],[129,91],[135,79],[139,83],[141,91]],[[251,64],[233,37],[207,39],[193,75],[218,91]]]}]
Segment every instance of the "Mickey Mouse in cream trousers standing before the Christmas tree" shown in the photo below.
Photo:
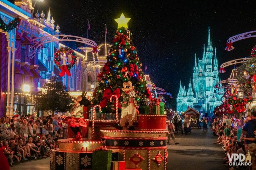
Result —
[{"label": "Mickey Mouse in cream trousers standing before the Christmas tree", "polygon": [[128,130],[135,130],[133,127],[133,121],[136,114],[136,107],[137,103],[134,97],[137,96],[137,94],[134,91],[133,84],[136,83],[136,78],[132,78],[131,81],[123,82],[121,83],[121,80],[117,80],[118,85],[122,85],[122,91],[125,93],[123,102],[122,102],[122,112],[121,112],[121,119],[120,124],[115,124],[114,126],[122,130],[125,126],[126,122],[126,116],[129,116],[129,125]]}]

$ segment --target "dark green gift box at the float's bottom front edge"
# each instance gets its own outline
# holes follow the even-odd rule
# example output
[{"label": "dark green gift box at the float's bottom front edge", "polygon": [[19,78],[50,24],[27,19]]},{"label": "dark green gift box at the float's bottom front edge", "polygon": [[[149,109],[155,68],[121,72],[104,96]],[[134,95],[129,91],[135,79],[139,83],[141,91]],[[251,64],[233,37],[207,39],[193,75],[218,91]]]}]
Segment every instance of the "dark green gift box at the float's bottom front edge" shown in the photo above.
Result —
[{"label": "dark green gift box at the float's bottom front edge", "polygon": [[110,170],[112,161],[112,151],[96,150],[93,152],[92,169]]}]

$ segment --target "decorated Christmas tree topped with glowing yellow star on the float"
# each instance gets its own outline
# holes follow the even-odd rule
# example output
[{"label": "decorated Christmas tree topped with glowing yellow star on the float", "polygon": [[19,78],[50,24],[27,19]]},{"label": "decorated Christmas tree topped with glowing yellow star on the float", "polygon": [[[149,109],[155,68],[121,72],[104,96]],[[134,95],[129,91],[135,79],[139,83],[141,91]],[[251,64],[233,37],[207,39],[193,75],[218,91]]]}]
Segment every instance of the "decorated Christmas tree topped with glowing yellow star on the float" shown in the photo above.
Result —
[{"label": "decorated Christmas tree topped with glowing yellow star on the float", "polygon": [[[113,45],[111,46],[107,62],[104,64],[101,73],[98,75],[99,85],[95,88],[92,105],[99,104],[103,112],[115,110],[114,104],[110,102],[112,94],[117,95],[122,102],[123,93],[119,82],[132,81],[134,91],[137,94],[135,100],[138,105],[143,104],[145,98],[150,98],[147,82],[141,69],[141,62],[137,49],[133,44],[132,34],[127,28],[129,18],[122,14],[119,19],[118,29],[114,33]],[[119,84],[119,85],[118,85]]]}]

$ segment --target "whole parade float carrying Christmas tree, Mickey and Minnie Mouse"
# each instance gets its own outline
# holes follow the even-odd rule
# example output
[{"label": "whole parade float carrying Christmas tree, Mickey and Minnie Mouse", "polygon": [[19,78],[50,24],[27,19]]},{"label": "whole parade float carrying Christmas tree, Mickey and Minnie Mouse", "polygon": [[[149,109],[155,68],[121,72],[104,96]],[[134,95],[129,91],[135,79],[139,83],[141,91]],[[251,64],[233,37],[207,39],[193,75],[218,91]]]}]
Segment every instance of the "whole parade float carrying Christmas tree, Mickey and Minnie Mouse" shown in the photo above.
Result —
[{"label": "whole parade float carrying Christmas tree, Mickey and Minnie Mouse", "polygon": [[94,98],[78,96],[63,120],[68,138],[58,140],[59,148],[51,151],[51,170],[166,170],[164,103],[151,96],[127,28],[129,20],[123,14],[116,19],[118,29]]}]

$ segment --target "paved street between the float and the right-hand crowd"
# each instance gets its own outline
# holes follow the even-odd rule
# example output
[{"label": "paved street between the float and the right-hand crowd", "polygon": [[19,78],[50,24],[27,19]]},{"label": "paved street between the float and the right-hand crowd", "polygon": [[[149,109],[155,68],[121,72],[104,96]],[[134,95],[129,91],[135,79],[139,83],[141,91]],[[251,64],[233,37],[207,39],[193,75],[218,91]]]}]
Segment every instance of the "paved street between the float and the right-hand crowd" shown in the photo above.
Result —
[{"label": "paved street between the float and the right-hand crowd", "polygon": [[[181,133],[181,132],[180,132]],[[203,132],[202,129],[192,128],[191,133],[176,137],[175,145],[171,141],[168,145],[168,165],[171,170],[226,170],[229,166],[222,165],[224,150],[216,141],[212,131]]]}]

